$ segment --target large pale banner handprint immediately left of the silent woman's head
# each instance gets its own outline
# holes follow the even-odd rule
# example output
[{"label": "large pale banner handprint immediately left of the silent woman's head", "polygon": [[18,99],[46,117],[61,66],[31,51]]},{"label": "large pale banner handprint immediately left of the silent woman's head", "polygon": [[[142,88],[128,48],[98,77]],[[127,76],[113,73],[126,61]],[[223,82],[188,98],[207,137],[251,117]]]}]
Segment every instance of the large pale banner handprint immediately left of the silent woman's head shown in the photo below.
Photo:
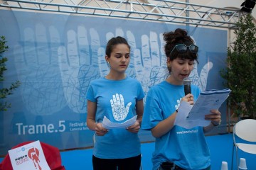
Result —
[{"label": "large pale banner handprint immediately left of the silent woman's head", "polygon": [[[90,35],[90,42],[88,35]],[[67,47],[58,49],[59,67],[68,106],[75,113],[86,113],[85,93],[93,79],[106,74],[105,50],[100,47],[100,36],[94,28],[78,26],[67,32]]]}]

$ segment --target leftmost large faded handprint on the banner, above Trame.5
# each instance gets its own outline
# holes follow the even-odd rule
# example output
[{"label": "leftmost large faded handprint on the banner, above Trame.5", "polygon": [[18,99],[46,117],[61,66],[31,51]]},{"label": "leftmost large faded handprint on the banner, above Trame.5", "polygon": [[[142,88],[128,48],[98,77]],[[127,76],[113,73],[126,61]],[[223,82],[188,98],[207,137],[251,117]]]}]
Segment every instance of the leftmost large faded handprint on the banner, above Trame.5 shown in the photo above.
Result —
[{"label": "leftmost large faded handprint on the banner, above Trame.5", "polygon": [[14,49],[14,56],[23,103],[35,115],[58,112],[66,105],[57,67],[58,30],[46,29],[42,23],[37,23],[35,28],[20,29],[21,40]]}]

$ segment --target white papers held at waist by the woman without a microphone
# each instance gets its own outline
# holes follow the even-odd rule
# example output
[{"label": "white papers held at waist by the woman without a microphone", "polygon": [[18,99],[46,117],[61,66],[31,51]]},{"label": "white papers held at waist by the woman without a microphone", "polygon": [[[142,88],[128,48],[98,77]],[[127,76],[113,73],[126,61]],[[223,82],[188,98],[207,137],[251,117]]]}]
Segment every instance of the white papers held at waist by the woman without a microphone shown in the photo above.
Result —
[{"label": "white papers held at waist by the woman without a microphone", "polygon": [[106,116],[104,116],[102,121],[102,127],[106,129],[127,128],[133,125],[136,122],[136,120],[137,115],[134,115],[134,117],[130,118],[129,120],[126,120],[123,123],[113,123]]}]

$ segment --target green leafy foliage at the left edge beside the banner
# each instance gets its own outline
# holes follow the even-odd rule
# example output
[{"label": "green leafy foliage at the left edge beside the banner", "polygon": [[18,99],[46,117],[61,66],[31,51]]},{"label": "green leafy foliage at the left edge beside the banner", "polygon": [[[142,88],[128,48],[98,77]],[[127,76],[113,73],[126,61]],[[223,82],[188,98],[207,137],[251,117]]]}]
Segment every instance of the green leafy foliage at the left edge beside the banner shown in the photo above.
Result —
[{"label": "green leafy foliage at the left edge beside the banner", "polygon": [[[4,81],[4,72],[7,70],[6,69],[6,62],[8,61],[8,59],[6,57],[4,57],[4,52],[6,52],[9,49],[9,47],[6,45],[6,39],[4,36],[0,37],[0,81],[3,82]],[[16,81],[13,84],[11,84],[11,86],[9,86],[8,88],[3,88],[1,87],[0,89],[0,111],[7,111],[7,108],[11,107],[11,103],[7,103],[6,101],[4,101],[4,98],[6,98],[7,96],[13,94],[13,91],[18,88],[18,86],[20,86],[21,82],[20,81]]]}]

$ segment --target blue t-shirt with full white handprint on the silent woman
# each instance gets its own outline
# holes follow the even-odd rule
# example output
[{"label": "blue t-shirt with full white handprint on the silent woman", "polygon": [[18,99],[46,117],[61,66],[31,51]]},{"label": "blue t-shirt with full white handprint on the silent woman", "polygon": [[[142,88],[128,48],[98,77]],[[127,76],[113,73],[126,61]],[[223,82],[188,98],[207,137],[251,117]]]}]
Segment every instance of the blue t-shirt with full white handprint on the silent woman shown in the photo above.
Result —
[{"label": "blue t-shirt with full white handprint on the silent woman", "polygon": [[[95,120],[101,123],[104,116],[114,123],[123,123],[136,113],[136,102],[144,98],[142,86],[136,79],[126,77],[115,81],[95,79],[90,82],[86,98],[97,103]],[[119,107],[119,106],[122,107]],[[137,133],[124,128],[110,129],[104,136],[95,135],[93,155],[102,159],[124,159],[141,154]]]}]

